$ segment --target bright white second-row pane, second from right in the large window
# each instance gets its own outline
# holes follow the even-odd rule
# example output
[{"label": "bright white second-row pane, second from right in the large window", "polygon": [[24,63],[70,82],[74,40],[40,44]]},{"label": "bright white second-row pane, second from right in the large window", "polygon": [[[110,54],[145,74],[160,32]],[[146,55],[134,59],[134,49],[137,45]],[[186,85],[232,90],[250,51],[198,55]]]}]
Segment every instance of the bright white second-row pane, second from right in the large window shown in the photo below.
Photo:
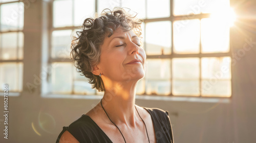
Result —
[{"label": "bright white second-row pane, second from right in the large window", "polygon": [[174,52],[178,54],[199,53],[200,20],[174,22]]}]

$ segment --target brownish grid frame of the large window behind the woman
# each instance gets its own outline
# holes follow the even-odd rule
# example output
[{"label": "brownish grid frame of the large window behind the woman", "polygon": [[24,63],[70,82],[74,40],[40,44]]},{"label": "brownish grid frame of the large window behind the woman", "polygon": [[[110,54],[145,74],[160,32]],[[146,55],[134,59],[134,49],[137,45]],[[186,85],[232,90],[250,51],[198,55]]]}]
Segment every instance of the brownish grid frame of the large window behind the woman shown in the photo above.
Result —
[{"label": "brownish grid frame of the large window behind the woman", "polygon": [[[58,58],[52,58],[51,57],[51,51],[52,51],[52,47],[51,47],[51,43],[52,43],[52,32],[56,31],[56,30],[74,30],[77,28],[80,28],[79,26],[70,26],[70,27],[59,27],[59,28],[55,28],[53,27],[53,1],[51,1],[51,12],[50,12],[50,33],[49,33],[49,62],[48,64],[51,64],[53,62],[71,62],[70,59],[58,59]],[[58,1],[58,0],[56,0]],[[74,0],[72,0],[72,2],[74,2]],[[121,2],[121,0],[120,0]],[[147,0],[145,1],[145,5],[147,4]],[[146,13],[146,18],[143,19],[144,22],[144,30],[146,29],[146,23],[148,22],[157,22],[157,21],[170,21],[171,22],[171,54],[169,55],[147,55],[147,59],[169,59],[170,60],[170,94],[168,94],[167,96],[163,96],[161,94],[146,94],[146,90],[144,92],[144,94],[142,94],[143,96],[163,96],[163,97],[184,97],[184,98],[231,98],[232,97],[232,87],[233,87],[233,82],[232,82],[232,66],[230,68],[230,73],[231,73],[231,94],[230,97],[217,97],[217,96],[202,96],[202,67],[201,67],[201,59],[202,58],[207,58],[207,57],[212,57],[212,58],[216,58],[216,57],[232,57],[231,53],[232,53],[232,49],[231,49],[231,39],[230,39],[230,34],[229,34],[229,51],[226,53],[201,53],[202,51],[202,45],[201,45],[201,19],[203,18],[209,18],[210,14],[209,13],[200,13],[200,14],[194,14],[193,16],[191,15],[174,15],[174,0],[170,0],[170,16],[169,17],[163,17],[163,18],[150,18],[147,19],[147,13]],[[121,3],[120,3],[121,5]],[[74,9],[74,5],[73,5],[73,9]],[[95,10],[96,10],[96,14],[98,13],[97,11],[98,9],[98,1],[95,0]],[[147,11],[147,6],[145,6],[145,11]],[[74,12],[73,12],[74,15]],[[73,16],[72,15],[72,16]],[[73,16],[74,17],[74,16]],[[174,52],[174,22],[177,20],[191,20],[191,19],[199,19],[200,20],[200,50],[198,54],[177,54]],[[74,20],[73,20],[74,22]],[[144,32],[145,33],[145,32]],[[230,33],[230,30],[229,30]],[[146,36],[146,33],[145,33]],[[146,41],[144,40],[144,50],[146,51]],[[199,88],[200,88],[200,95],[199,96],[176,96],[173,94],[173,72],[172,72],[172,64],[173,64],[173,58],[199,58]],[[231,58],[232,59],[232,58]],[[143,79],[145,80],[145,79]],[[73,85],[72,85],[73,86]],[[145,85],[146,86],[146,85]],[[74,88],[72,87],[72,94],[74,94]],[[77,95],[77,94],[76,94]],[[95,95],[98,95],[97,91],[95,91]],[[87,96],[87,95],[86,95]]]}]

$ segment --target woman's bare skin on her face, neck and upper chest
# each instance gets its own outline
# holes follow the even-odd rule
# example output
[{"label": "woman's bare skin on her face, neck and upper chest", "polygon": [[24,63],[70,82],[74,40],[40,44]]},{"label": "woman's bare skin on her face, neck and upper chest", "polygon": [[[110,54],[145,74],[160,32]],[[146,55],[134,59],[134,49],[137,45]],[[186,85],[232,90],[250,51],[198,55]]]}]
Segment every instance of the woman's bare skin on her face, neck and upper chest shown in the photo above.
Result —
[{"label": "woman's bare skin on her face, neck and upper chest", "polygon": [[[142,63],[127,64],[134,59],[140,59]],[[105,37],[101,46],[100,62],[92,71],[94,75],[101,73],[105,86],[102,98],[103,108],[121,130],[126,142],[148,140],[145,126],[135,106],[146,124],[150,142],[156,142],[150,114],[142,107],[135,105],[136,86],[145,75],[145,59],[145,51],[140,46],[140,40],[136,34],[133,31],[124,32],[118,28],[111,37]],[[113,142],[124,142],[122,135],[109,120],[100,102],[86,115],[90,116]],[[69,138],[72,138],[71,134]]]}]

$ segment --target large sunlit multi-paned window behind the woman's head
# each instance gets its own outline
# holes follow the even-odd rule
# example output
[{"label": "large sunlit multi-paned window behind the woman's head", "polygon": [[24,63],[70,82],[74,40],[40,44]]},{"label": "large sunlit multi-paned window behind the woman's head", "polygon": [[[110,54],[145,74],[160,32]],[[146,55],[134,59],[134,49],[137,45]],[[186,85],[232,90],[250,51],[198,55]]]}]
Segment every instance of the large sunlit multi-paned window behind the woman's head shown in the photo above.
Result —
[{"label": "large sunlit multi-paned window behind the woman's head", "polygon": [[146,73],[137,94],[231,96],[228,0],[54,0],[52,5],[52,93],[100,94],[70,62],[70,35],[94,12],[117,6],[138,12],[144,20]]}]

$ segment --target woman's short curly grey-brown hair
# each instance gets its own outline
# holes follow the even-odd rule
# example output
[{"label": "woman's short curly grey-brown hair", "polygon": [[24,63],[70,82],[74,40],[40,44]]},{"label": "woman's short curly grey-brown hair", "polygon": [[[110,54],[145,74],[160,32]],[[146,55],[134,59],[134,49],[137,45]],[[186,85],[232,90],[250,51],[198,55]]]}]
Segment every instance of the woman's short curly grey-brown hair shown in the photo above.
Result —
[{"label": "woman's short curly grey-brown hair", "polygon": [[134,30],[138,37],[141,35],[142,20],[136,17],[137,13],[132,16],[130,11],[126,12],[124,8],[104,9],[100,17],[85,19],[81,31],[73,36],[70,57],[80,75],[88,78],[92,88],[98,91],[105,91],[105,87],[101,77],[92,71],[100,62],[104,38],[110,37],[119,27],[123,31]]}]

